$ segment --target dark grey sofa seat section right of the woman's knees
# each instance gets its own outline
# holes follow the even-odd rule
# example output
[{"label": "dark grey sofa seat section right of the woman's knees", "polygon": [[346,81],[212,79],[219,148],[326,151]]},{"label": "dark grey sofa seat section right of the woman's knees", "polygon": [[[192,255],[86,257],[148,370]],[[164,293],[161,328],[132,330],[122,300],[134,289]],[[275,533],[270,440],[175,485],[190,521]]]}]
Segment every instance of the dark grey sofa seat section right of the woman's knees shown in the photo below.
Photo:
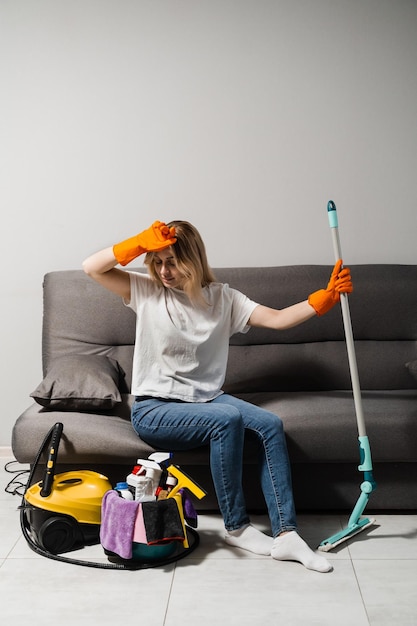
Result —
[{"label": "dark grey sofa seat section right of the woman's knees", "polygon": [[[359,460],[352,392],[264,392],[238,396],[281,417],[292,463]],[[374,462],[415,462],[417,390],[362,391],[361,396]]]}]

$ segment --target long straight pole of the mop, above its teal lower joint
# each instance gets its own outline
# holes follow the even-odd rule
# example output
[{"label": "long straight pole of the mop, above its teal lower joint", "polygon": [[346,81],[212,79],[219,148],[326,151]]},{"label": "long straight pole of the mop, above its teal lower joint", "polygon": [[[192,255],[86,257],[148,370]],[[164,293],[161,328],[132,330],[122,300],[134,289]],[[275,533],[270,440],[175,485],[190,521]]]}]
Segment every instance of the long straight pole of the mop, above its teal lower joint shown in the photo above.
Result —
[{"label": "long straight pole of the mop, above its teal lower joint", "polygon": [[[327,204],[327,215],[332,233],[333,249],[335,260],[342,259],[342,251],[339,239],[339,226],[337,221],[337,211],[335,203],[330,200]],[[352,322],[350,318],[349,301],[347,293],[340,294],[340,304],[342,307],[343,325],[346,336],[346,347],[349,359],[350,377],[352,380],[353,400],[356,410],[356,421],[358,423],[359,437],[366,438],[365,417],[362,407],[362,395],[359,384],[358,365],[356,362],[355,344],[353,341]],[[366,442],[366,439],[365,439]],[[365,454],[365,456],[367,456]]]}]

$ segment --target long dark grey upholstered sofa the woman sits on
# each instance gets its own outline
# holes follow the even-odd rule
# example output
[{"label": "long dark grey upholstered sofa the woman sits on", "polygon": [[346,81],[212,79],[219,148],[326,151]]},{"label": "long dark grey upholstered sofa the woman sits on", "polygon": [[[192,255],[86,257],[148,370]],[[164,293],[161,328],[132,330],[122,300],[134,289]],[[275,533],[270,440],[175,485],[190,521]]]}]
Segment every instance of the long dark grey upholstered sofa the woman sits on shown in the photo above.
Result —
[{"label": "long dark grey upholstered sofa the woman sits on", "polygon": [[[416,509],[417,265],[356,265],[351,270],[354,293],[349,302],[377,482],[368,507]],[[222,268],[215,273],[218,280],[254,300],[281,308],[323,287],[330,271],[330,266],[300,265]],[[125,376],[116,381],[120,398],[109,392],[102,405],[80,410],[64,399],[64,404],[41,406],[38,398],[13,429],[12,448],[18,461],[33,462],[57,421],[64,424],[58,471],[93,468],[115,481],[129,473],[137,458],[150,454],[129,419],[134,326],[132,311],[81,270],[45,276],[44,376],[52,376],[52,365],[66,355],[110,357],[109,362],[116,370],[120,366]],[[95,369],[90,373],[104,385],[104,373],[99,366]],[[82,368],[77,372],[87,378]],[[71,385],[70,379],[65,378],[65,383]],[[340,307],[284,332],[253,328],[233,336],[224,389],[283,419],[298,510],[352,508],[363,477],[357,468],[357,426]],[[74,389],[71,392],[77,395]],[[196,504],[215,507],[207,449],[175,454],[174,461],[208,491]],[[263,509],[250,440],[244,482],[248,507]]]}]

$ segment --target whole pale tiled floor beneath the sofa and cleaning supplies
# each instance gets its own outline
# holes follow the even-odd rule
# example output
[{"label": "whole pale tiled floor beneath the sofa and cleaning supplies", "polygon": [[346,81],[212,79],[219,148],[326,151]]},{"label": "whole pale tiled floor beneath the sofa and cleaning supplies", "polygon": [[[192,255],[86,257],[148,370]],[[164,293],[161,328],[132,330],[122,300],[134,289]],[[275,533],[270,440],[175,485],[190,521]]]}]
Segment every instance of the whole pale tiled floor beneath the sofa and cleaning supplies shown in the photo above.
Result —
[{"label": "whole pale tiled floor beneath the sofa and cleaning supplies", "polygon": [[[376,515],[376,524],[328,553],[318,574],[225,546],[216,514],[199,516],[200,546],[176,564],[112,571],[60,563],[30,550],[19,496],[0,458],[0,616],[20,626],[405,626],[417,624],[417,515]],[[17,469],[15,467],[15,469]],[[337,515],[300,515],[312,546],[346,524]],[[253,522],[268,530],[267,518]],[[102,559],[102,548],[76,558]]]}]

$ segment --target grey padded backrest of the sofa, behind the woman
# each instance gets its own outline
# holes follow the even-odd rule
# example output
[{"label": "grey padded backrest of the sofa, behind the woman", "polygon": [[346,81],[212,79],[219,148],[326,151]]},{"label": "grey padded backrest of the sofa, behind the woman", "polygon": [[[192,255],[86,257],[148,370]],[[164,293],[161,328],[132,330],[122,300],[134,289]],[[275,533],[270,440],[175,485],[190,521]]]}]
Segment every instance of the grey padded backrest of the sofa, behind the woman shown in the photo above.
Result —
[{"label": "grey padded backrest of the sofa, behind the woman", "polygon": [[[326,286],[330,266],[218,268],[221,282],[253,300],[283,308]],[[408,389],[405,367],[417,359],[417,265],[351,266],[349,296],[359,377],[363,389]],[[63,354],[103,354],[117,359],[130,385],[135,315],[121,299],[82,270],[44,277],[42,356],[44,374]],[[252,328],[234,335],[225,390],[350,389],[340,307],[296,328]]]}]

